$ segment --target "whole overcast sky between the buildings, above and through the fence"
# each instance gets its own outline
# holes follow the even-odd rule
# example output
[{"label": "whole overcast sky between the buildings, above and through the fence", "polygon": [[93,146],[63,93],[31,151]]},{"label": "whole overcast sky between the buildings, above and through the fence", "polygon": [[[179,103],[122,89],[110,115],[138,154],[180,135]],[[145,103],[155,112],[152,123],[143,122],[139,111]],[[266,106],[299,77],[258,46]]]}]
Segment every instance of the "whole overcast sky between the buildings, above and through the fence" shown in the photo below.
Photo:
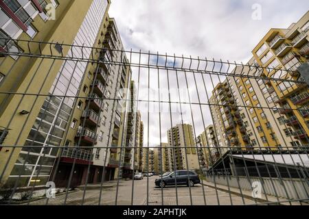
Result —
[{"label": "whole overcast sky between the buildings, above and through the fence", "polygon": [[[261,14],[259,14],[259,9]],[[110,16],[115,18],[117,27],[122,36],[126,50],[151,51],[173,55],[192,57],[207,57],[223,61],[247,62],[251,57],[253,47],[271,27],[287,28],[296,22],[309,10],[308,0],[113,0]],[[139,69],[133,68],[133,77],[137,80]],[[148,73],[141,70],[141,88],[148,87]],[[160,87],[167,88],[166,73],[160,72]],[[170,74],[170,86],[177,88],[175,74]],[[201,83],[201,75],[196,76]],[[205,78],[209,82],[209,78]],[[150,88],[157,88],[157,73],[150,73]],[[172,81],[172,82],[171,82]],[[179,85],[187,86],[185,76],[180,73]],[[198,101],[194,77],[189,74],[188,87],[192,88],[192,101]],[[210,82],[209,82],[210,83]],[[216,86],[207,84],[207,90]],[[205,94],[203,83],[198,86],[199,92]],[[205,88],[205,89],[204,89]],[[204,89],[204,90],[203,90]],[[185,95],[181,95],[185,98]],[[206,98],[207,96],[203,96]],[[148,92],[139,92],[139,99],[148,99]],[[150,94],[150,99],[152,96]],[[155,95],[153,99],[157,99]],[[161,96],[168,101],[168,95]],[[179,101],[179,96],[175,96]],[[183,99],[181,100],[183,101]],[[201,100],[203,102],[203,100]],[[205,100],[205,103],[207,100]],[[157,103],[151,103],[157,105]],[[140,105],[142,107],[142,105]],[[147,108],[147,106],[145,106]],[[163,104],[164,107],[164,104]],[[165,106],[168,107],[168,106]],[[173,105],[172,105],[173,107]],[[176,109],[176,105],[174,105]],[[180,105],[178,105],[180,107]],[[211,116],[207,105],[183,105],[183,120],[185,123],[194,123],[196,135],[203,131],[203,127],[211,124]],[[193,112],[193,121],[192,114]],[[147,111],[147,110],[146,110]],[[142,120],[146,125],[144,142],[147,146],[148,132],[150,146],[158,144],[159,139],[165,142],[166,130],[181,121],[179,112],[172,114],[172,123],[169,110],[161,114],[161,132],[159,130],[159,113],[150,112],[149,128],[148,113],[142,112]],[[204,120],[202,120],[201,111]],[[149,131],[148,131],[149,130]],[[160,134],[161,133],[161,134]]]}]

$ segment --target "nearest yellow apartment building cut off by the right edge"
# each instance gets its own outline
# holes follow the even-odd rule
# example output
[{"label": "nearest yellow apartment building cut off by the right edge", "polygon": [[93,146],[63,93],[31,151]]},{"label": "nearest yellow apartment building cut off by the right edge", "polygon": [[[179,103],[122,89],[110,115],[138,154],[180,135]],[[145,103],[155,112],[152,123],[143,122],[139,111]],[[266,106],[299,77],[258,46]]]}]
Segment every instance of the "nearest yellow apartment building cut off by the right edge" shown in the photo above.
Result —
[{"label": "nearest yellow apartment building cut off by the right edge", "polygon": [[[257,64],[266,68],[262,76],[301,80],[297,67],[308,62],[308,34],[309,11],[287,29],[270,29],[252,51]],[[274,80],[264,80],[264,83],[271,94],[266,101],[280,109],[275,112],[275,120],[281,123],[280,130],[284,131],[276,133],[277,138],[284,136],[279,144],[295,149],[308,146],[308,86],[304,83]],[[278,145],[277,142],[270,144]]]}]

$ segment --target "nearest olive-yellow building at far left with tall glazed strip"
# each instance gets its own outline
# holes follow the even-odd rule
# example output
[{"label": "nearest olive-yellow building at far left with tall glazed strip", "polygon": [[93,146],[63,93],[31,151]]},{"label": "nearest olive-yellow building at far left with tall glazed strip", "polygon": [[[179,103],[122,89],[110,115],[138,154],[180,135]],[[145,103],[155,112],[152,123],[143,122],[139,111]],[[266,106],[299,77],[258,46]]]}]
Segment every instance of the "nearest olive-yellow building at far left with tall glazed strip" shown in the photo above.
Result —
[{"label": "nearest olive-yellow building at far left with tall glazed strip", "polygon": [[[49,19],[45,6],[52,3],[56,19]],[[63,44],[98,45],[100,33],[104,34],[108,20],[110,1],[1,1],[1,37],[16,40],[57,42],[32,44],[32,52],[73,57],[89,57],[91,48],[73,49]],[[67,28],[67,27],[70,28]],[[65,34],[64,34],[65,33]],[[12,40],[1,40],[1,51],[29,51],[26,43],[16,44]],[[99,54],[96,54],[99,57]],[[4,94],[0,97],[1,141],[7,146],[0,151],[1,184],[16,183],[19,187],[45,185],[52,172],[58,154],[56,146],[63,145],[71,113],[76,107],[73,98],[81,90],[92,64],[41,59],[36,57],[7,55],[1,57],[2,92],[46,94],[51,96],[18,96]],[[53,96],[56,95],[56,96]],[[58,96],[57,96],[58,95]],[[12,110],[14,109],[14,110]],[[93,140],[94,141],[94,140]],[[48,146],[55,146],[50,148]],[[46,147],[46,148],[44,148]],[[24,165],[25,164],[25,165]],[[19,178],[19,175],[21,177]]]}]

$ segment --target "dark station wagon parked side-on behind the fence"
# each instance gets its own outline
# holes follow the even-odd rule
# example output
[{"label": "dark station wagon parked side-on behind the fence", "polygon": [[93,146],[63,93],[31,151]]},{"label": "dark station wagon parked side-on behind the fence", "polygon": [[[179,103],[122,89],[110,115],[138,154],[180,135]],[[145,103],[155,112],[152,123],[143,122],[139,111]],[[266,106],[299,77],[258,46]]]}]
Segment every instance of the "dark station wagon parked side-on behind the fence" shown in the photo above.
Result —
[{"label": "dark station wagon parked side-on behind the fence", "polygon": [[155,185],[164,188],[165,185],[187,185],[193,187],[194,184],[201,183],[200,178],[196,172],[192,170],[176,170],[162,175],[155,180]]}]

